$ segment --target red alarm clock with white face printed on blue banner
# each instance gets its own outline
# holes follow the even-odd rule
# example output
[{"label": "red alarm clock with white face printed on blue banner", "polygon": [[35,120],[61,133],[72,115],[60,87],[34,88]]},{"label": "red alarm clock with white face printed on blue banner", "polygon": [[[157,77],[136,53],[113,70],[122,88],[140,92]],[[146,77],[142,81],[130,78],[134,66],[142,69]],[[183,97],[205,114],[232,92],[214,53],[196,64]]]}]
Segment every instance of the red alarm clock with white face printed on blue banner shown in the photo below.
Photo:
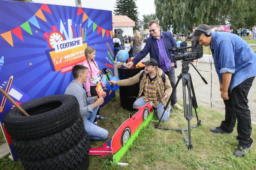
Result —
[{"label": "red alarm clock with white face printed on blue banner", "polygon": [[51,30],[53,30],[53,31],[51,33],[49,33],[49,34],[47,32],[44,33],[43,34],[43,38],[45,40],[48,38],[48,40],[47,40],[48,45],[49,45],[50,48],[53,49],[53,48],[56,47],[58,42],[64,41],[65,38],[62,35],[62,33],[60,33],[59,31],[56,31],[56,30],[58,30],[58,28],[56,26],[52,26]]}]

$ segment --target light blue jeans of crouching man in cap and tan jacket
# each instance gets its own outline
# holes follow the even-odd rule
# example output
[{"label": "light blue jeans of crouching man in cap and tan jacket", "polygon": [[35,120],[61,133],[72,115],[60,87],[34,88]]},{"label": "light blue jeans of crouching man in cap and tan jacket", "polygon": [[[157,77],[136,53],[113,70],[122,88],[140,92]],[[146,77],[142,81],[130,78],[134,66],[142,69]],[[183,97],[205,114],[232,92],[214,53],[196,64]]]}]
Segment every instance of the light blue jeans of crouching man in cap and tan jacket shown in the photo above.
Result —
[{"label": "light blue jeans of crouching man in cap and tan jacket", "polygon": [[[143,97],[140,97],[138,98],[134,103],[133,103],[133,107],[142,107],[144,106],[145,104],[147,104],[148,102],[144,102],[143,100]],[[171,108],[171,106],[169,105],[169,108]],[[157,105],[157,117],[160,119],[163,112],[164,112],[164,104],[162,102],[160,102],[158,105]],[[168,119],[169,119],[169,116],[170,116],[170,111],[165,111],[164,112],[164,116],[162,117],[162,121],[163,122],[166,122]]]}]

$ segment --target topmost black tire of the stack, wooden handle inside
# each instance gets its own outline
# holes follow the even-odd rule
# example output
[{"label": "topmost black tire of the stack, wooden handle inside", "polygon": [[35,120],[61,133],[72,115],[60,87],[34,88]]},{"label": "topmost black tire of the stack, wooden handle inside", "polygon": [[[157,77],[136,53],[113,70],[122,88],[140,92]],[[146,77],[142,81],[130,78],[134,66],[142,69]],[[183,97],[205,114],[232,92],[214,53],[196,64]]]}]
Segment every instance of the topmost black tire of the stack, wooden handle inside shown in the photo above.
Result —
[{"label": "topmost black tire of the stack, wooden handle inside", "polygon": [[30,116],[14,108],[4,116],[5,128],[15,139],[36,139],[59,132],[72,125],[80,114],[72,95],[53,95],[20,105]]}]

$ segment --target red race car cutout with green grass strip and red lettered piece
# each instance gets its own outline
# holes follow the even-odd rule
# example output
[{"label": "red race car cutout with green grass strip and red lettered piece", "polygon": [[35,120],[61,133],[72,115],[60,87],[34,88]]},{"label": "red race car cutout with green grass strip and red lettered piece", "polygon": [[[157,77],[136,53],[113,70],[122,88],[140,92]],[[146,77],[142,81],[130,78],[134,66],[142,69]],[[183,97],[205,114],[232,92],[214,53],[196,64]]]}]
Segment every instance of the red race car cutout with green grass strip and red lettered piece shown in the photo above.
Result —
[{"label": "red race car cutout with green grass strip and red lettered piece", "polygon": [[[123,155],[128,150],[128,147],[133,144],[133,141],[138,137],[140,130],[146,127],[150,120],[153,118],[152,102],[148,102],[142,107],[134,107],[139,111],[133,116],[129,113],[129,119],[127,119],[116,131],[115,135],[109,142],[103,144],[103,148],[91,148],[89,154],[101,155],[101,158],[105,155],[113,154],[114,162],[118,163]],[[111,153],[110,153],[111,148]]]}]

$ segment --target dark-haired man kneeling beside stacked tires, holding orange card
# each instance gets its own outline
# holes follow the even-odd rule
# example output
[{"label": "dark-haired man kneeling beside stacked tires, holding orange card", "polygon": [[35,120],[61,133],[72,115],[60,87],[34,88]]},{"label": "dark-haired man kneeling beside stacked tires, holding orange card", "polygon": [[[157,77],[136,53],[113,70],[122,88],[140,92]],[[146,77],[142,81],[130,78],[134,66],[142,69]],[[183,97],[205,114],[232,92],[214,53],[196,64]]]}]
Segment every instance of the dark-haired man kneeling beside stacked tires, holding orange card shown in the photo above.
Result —
[{"label": "dark-haired man kneeling beside stacked tires, holding orange card", "polygon": [[85,130],[89,138],[94,140],[106,139],[109,132],[97,125],[93,124],[99,106],[103,104],[106,92],[103,92],[103,97],[87,97],[83,83],[87,81],[87,67],[75,65],[72,69],[72,75],[75,80],[68,85],[65,94],[73,95],[77,98],[80,106],[80,114],[85,123]]}]

